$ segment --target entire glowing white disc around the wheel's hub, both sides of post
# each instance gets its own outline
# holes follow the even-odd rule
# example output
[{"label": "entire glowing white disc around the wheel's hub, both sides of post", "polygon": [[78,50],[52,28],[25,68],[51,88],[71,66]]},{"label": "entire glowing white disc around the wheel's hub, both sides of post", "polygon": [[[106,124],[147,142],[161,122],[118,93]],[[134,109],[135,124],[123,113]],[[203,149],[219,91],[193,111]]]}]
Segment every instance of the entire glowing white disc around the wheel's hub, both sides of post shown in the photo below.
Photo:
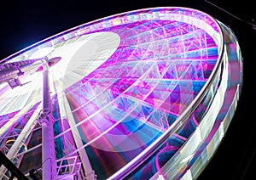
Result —
[{"label": "entire glowing white disc around the wheel's hub, both sides of post", "polygon": [[[80,81],[84,76],[96,70],[116,51],[119,42],[119,35],[113,32],[96,32],[55,44],[54,51],[49,54],[48,59],[61,57],[61,60],[49,69],[50,75],[53,75],[50,76],[51,81],[55,84],[55,87],[53,87],[53,83],[49,84],[51,91],[55,89],[55,93],[61,93],[73,83]],[[41,54],[40,50],[38,52]],[[35,57],[38,57],[37,52],[33,53],[29,59]],[[29,82],[26,86],[13,89],[11,93],[1,97],[0,103],[1,101],[9,102],[8,99],[12,99],[13,104],[16,105],[5,103],[6,107],[0,111],[0,115],[22,110],[26,104],[36,104],[42,100],[41,96],[33,96],[29,99],[30,102],[23,101],[24,103],[20,103],[20,99],[27,97],[27,94],[41,94],[41,82],[43,81],[41,73],[39,71],[31,76],[26,76],[26,81]]]}]

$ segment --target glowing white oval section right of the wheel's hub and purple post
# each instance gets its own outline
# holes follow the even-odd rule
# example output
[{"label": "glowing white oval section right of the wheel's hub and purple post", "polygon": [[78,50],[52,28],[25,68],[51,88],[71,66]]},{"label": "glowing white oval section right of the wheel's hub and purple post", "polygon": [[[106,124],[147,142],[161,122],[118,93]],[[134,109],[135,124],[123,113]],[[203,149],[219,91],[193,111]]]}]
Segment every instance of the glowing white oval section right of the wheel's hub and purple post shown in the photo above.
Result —
[{"label": "glowing white oval section right of the wheel's hub and purple post", "polygon": [[119,47],[120,37],[113,32],[96,32],[67,40],[56,45],[50,58],[61,56],[61,61],[50,68],[55,72],[53,81],[61,81],[57,92],[70,87],[102,65]]}]

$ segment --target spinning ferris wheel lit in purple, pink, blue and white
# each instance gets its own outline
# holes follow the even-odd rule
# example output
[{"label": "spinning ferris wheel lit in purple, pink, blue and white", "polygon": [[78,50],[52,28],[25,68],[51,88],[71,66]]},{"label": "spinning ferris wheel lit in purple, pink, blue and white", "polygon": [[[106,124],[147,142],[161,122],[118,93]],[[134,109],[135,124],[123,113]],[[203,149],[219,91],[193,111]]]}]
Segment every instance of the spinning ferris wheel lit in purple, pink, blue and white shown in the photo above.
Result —
[{"label": "spinning ferris wheel lit in purple, pink, blue and white", "polygon": [[192,8],[116,14],[0,62],[1,151],[44,179],[196,178],[242,83],[235,35]]}]

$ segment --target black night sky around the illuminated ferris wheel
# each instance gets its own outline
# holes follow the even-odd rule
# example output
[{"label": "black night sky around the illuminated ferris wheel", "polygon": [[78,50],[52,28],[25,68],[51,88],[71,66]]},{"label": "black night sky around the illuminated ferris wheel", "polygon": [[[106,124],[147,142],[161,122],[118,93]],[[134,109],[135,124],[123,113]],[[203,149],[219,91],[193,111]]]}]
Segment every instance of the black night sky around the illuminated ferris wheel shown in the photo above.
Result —
[{"label": "black night sky around the illuminated ferris wheel", "polygon": [[[256,155],[253,156],[256,148],[256,118],[253,116],[256,107],[254,90],[256,30],[253,30],[252,25],[247,24],[247,22],[253,23],[253,20],[256,23],[253,1],[242,0],[239,3],[231,0],[210,1],[241,20],[203,0],[120,0],[120,2],[91,0],[90,3],[88,2],[86,0],[5,1],[0,5],[0,59],[74,26],[139,8],[181,6],[197,8],[211,14],[235,32],[244,60],[244,80],[235,117],[216,155],[199,179],[256,179],[253,173],[253,166],[256,166]],[[249,175],[253,177],[248,178]],[[226,178],[228,176],[230,178]]]}]

